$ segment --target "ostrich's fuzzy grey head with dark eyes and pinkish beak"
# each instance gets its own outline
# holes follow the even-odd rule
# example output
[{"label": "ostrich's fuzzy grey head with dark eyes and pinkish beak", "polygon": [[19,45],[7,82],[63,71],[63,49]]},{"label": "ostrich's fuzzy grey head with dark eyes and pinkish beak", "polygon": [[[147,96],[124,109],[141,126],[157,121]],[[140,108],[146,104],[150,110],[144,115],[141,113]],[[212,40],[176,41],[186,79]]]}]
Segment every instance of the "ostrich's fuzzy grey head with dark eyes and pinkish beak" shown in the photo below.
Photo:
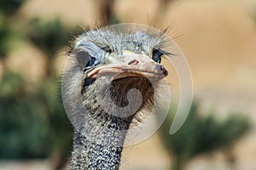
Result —
[{"label": "ostrich's fuzzy grey head with dark eyes and pinkish beak", "polygon": [[166,68],[160,64],[162,56],[167,54],[160,48],[161,41],[160,37],[143,31],[117,34],[98,30],[80,36],[72,54],[83,75],[78,81],[84,99],[94,100],[85,101],[84,105],[90,109],[93,104],[93,108],[101,105],[108,110],[106,112],[119,112],[114,111],[111,103],[125,107],[129,104],[127,93],[136,88],[143,97],[142,106],[138,110],[142,109],[154,98],[152,83],[168,75]]}]

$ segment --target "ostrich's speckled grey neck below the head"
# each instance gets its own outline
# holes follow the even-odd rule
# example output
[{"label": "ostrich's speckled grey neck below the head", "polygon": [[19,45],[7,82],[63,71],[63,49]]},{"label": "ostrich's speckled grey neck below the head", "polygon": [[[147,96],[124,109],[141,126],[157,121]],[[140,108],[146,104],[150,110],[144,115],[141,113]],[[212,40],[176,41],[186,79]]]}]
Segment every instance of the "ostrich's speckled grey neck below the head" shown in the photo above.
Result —
[{"label": "ostrich's speckled grey neck below the head", "polygon": [[131,119],[100,111],[85,116],[83,129],[74,133],[71,169],[119,169]]}]

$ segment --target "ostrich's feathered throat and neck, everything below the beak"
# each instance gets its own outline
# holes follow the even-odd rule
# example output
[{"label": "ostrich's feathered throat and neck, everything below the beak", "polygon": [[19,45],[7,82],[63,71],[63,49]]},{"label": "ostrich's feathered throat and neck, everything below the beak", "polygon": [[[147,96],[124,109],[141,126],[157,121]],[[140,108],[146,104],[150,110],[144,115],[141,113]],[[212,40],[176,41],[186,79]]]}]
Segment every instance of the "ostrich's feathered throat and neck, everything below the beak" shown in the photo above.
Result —
[{"label": "ostrich's feathered throat and neck, everything below the beak", "polygon": [[[147,79],[134,77],[111,81],[110,77],[99,77],[96,82],[84,87],[83,105],[89,112],[80,113],[77,117],[81,126],[74,133],[73,170],[119,169],[127,130],[132,120],[137,119],[137,112],[147,103],[148,96],[154,94]],[[132,114],[126,115],[113,105],[127,105],[127,92],[132,88],[140,89],[143,105],[134,110],[134,105],[130,104],[126,110]],[[106,97],[108,92],[111,97]],[[137,103],[137,98],[133,102]]]}]

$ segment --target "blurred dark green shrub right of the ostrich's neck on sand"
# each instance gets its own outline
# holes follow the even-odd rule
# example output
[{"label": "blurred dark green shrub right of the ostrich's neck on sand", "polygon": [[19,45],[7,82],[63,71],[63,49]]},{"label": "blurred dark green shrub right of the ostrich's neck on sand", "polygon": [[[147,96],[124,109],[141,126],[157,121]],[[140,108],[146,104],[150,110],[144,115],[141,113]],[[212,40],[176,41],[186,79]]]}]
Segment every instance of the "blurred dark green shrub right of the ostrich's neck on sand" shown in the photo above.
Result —
[{"label": "blurred dark green shrub right of the ostrich's neck on sand", "polygon": [[242,114],[230,114],[224,121],[217,113],[201,116],[193,104],[189,116],[177,133],[169,134],[172,116],[160,127],[160,137],[166,150],[174,158],[172,170],[182,170],[186,162],[201,153],[229,147],[249,129],[249,121]]}]

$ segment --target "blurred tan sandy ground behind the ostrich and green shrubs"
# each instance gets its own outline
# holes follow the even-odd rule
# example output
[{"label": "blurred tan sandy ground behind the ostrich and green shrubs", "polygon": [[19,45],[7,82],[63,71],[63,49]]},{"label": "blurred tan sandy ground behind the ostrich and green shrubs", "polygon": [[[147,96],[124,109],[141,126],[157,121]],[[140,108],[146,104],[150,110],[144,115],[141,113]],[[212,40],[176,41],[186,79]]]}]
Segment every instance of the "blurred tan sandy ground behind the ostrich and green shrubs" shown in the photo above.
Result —
[{"label": "blurred tan sandy ground behind the ostrich and green shrubs", "polygon": [[[256,11],[255,4],[255,1],[249,0],[183,0],[169,5],[159,20],[162,26],[174,27],[174,36],[182,34],[177,43],[189,61],[195,83],[195,99],[204,101],[201,107],[204,111],[212,107],[221,115],[229,111],[241,111],[256,122],[256,20],[252,18],[253,11]],[[147,24],[159,12],[156,7],[156,0],[120,0],[117,1],[115,12],[124,22]],[[24,20],[35,16],[45,19],[59,16],[69,25],[83,25],[96,22],[94,10],[90,0],[34,0],[27,1],[20,16]],[[33,47],[27,45],[26,48],[16,50],[8,62],[15,63],[15,67],[22,67],[21,61],[16,61],[13,56],[19,55],[20,60],[26,59],[28,48]],[[36,48],[32,51],[39,60],[44,58]],[[37,65],[38,59],[26,65],[28,70],[32,70],[28,72],[35,74],[34,77],[44,74],[44,66]],[[61,59],[56,60],[59,62]],[[34,65],[39,68],[38,73],[33,71]],[[236,144],[237,170],[256,169],[255,140],[256,133],[253,130]],[[122,169],[165,170],[170,166],[169,160],[160,145],[160,139],[154,135],[142,144],[125,150]],[[24,169],[35,169],[33,166],[37,165],[40,169],[49,169],[48,161],[25,164],[27,168]],[[17,169],[12,167],[15,165],[21,166],[20,162],[0,163],[4,170]],[[186,169],[201,170],[207,167],[229,169],[220,150],[212,156],[198,156],[189,162]]]}]

